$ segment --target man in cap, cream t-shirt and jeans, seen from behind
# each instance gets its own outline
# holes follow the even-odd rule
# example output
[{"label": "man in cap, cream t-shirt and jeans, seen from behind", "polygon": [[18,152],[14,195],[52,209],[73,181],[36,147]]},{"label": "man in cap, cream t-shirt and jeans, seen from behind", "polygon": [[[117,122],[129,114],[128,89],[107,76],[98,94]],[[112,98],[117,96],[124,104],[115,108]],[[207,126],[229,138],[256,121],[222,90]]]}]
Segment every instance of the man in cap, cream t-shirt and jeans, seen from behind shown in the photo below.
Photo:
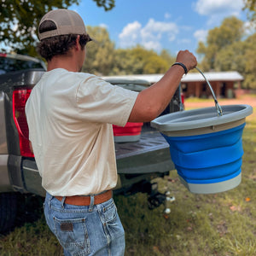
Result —
[{"label": "man in cap, cream t-shirt and jeans, seen from behind", "polygon": [[26,103],[29,137],[47,191],[44,214],[65,255],[124,255],[112,199],[117,182],[112,125],[156,118],[195,56],[180,51],[159,82],[140,93],[80,73],[91,38],[81,17],[52,10],[38,26],[48,70]]}]

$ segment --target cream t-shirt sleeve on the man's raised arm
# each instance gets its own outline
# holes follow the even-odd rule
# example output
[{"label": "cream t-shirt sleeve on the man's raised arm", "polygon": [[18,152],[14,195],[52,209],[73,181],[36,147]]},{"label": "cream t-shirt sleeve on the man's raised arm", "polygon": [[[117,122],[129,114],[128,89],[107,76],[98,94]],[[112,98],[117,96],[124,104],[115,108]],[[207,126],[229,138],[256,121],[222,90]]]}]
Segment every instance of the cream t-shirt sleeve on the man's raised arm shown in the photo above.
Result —
[{"label": "cream t-shirt sleeve on the man's raised arm", "polygon": [[96,76],[83,80],[76,101],[79,117],[92,122],[124,126],[136,102],[138,92],[109,84]]}]

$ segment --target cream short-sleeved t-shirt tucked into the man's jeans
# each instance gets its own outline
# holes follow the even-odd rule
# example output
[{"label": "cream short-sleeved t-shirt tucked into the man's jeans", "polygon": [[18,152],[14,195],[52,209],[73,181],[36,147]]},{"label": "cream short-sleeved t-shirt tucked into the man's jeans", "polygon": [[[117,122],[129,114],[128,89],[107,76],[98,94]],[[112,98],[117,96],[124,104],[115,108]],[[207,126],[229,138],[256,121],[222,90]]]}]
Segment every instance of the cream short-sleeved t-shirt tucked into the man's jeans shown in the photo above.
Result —
[{"label": "cream short-sleeved t-shirt tucked into the man's jeans", "polygon": [[26,119],[50,195],[98,194],[116,186],[112,124],[126,124],[137,94],[89,73],[44,73],[26,102]]}]

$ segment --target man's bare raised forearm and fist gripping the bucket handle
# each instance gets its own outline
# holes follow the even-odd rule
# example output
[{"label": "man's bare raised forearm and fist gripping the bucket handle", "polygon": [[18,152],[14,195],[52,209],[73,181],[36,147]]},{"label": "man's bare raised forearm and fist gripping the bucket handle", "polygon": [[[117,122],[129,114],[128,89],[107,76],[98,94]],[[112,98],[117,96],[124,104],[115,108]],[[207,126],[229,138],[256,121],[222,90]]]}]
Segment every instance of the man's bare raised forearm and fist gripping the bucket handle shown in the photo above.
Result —
[{"label": "man's bare raised forearm and fist gripping the bucket handle", "polygon": [[[188,50],[180,51],[176,61],[183,63],[188,71],[195,68],[197,64],[195,56]],[[183,74],[183,67],[175,65],[170,67],[160,81],[142,90],[137,96],[128,121],[149,122],[158,117],[172,100]]]}]

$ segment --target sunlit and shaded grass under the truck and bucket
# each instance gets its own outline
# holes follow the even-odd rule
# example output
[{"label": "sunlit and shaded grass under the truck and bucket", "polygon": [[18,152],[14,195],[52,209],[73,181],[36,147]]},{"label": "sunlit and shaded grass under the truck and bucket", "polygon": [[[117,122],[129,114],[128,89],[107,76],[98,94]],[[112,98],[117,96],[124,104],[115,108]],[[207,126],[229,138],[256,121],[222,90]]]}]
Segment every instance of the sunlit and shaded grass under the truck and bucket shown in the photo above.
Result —
[{"label": "sunlit and shaded grass under the truck and bucket", "polygon": [[[215,195],[191,194],[177,173],[157,179],[162,192],[169,190],[176,201],[148,210],[147,195],[115,196],[124,224],[126,256],[255,256],[256,255],[256,108],[247,118],[243,133],[242,182]],[[39,200],[40,201],[40,200]],[[38,219],[0,237],[0,254],[62,255],[62,249],[44,222],[41,202]]]}]

